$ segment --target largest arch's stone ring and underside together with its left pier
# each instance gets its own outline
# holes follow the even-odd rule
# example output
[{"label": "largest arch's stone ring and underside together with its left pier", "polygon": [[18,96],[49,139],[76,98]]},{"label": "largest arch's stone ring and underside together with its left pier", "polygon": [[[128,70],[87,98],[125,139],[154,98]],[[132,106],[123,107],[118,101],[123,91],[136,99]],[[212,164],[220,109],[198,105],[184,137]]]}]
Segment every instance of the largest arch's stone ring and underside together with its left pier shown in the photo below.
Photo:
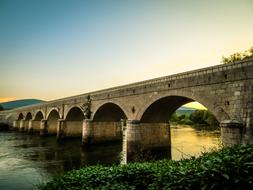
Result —
[{"label": "largest arch's stone ring and underside together with its left pier", "polygon": [[[175,91],[174,91],[175,92]],[[139,151],[168,151],[171,150],[170,116],[182,105],[197,101],[207,107],[218,119],[227,118],[228,115],[221,107],[216,107],[215,99],[204,96],[203,93],[196,98],[192,92],[177,91],[153,93],[146,96],[143,104],[136,115],[137,120],[127,123],[127,152],[128,158],[132,159],[134,152]],[[134,135],[132,135],[134,134]],[[141,147],[141,148],[140,148]],[[170,154],[170,153],[169,153]],[[155,155],[154,155],[155,156]]]}]

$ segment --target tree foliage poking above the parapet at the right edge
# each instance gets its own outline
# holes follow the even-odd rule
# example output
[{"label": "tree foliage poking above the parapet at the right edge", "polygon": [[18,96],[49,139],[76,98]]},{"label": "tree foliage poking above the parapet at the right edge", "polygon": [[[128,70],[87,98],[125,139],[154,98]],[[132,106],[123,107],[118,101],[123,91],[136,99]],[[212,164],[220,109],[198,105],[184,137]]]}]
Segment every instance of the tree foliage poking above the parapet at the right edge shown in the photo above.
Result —
[{"label": "tree foliage poking above the parapet at the right edge", "polygon": [[221,62],[224,64],[228,63],[234,63],[235,61],[241,61],[246,58],[252,57],[253,56],[253,47],[249,48],[248,50],[244,51],[243,53],[234,53],[230,55],[229,57],[224,57],[222,56]]}]

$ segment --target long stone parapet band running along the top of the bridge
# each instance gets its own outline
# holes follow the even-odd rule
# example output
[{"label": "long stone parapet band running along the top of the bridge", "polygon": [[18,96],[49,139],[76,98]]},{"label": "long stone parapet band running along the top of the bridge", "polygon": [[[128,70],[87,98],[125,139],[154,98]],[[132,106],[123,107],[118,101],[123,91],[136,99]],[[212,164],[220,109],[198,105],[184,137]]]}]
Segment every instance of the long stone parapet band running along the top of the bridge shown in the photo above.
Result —
[{"label": "long stone parapet band running along the top of the bridge", "polygon": [[[87,96],[92,100],[111,99],[123,96],[132,96],[142,93],[161,90],[173,90],[192,86],[211,85],[221,82],[233,82],[237,80],[252,79],[253,58],[235,62],[234,64],[224,64],[203,69],[188,71],[137,83],[117,86],[104,90],[85,93],[77,96],[53,100],[41,104],[25,106],[15,109],[16,112],[30,109],[43,109],[44,107],[57,107],[62,104],[80,104]],[[10,111],[12,112],[12,111]]]}]

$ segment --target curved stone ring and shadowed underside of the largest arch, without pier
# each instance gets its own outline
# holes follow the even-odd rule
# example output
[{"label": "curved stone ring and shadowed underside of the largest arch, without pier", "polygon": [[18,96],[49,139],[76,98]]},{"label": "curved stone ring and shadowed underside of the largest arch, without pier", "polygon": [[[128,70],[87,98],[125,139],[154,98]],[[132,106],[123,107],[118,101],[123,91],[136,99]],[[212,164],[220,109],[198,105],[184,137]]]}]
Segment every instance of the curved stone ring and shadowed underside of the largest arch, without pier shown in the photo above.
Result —
[{"label": "curved stone ring and shadowed underside of the largest arch, without pier", "polygon": [[[181,95],[165,93],[160,96],[156,96],[146,101],[137,113],[137,119],[146,122],[157,122],[157,121],[168,121],[169,116],[180,106],[185,103],[197,101],[204,105],[210,112],[214,114],[216,119],[220,122],[222,120],[229,119],[228,114],[222,109],[222,107],[215,105],[215,99],[207,97],[206,95],[200,94],[199,96],[194,95],[191,92],[182,91],[178,93]],[[160,113],[158,115],[156,113]],[[151,114],[156,114],[151,117]]]}]

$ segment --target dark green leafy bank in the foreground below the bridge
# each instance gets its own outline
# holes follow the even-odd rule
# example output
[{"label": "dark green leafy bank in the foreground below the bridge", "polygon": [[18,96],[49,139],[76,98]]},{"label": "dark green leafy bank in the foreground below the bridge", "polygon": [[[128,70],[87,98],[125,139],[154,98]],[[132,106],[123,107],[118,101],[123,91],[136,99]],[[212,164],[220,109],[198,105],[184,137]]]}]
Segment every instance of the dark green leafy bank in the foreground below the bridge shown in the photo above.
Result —
[{"label": "dark green leafy bank in the foreground below the bridge", "polygon": [[198,158],[120,166],[92,166],[56,176],[54,189],[252,189],[253,145],[237,145]]}]

